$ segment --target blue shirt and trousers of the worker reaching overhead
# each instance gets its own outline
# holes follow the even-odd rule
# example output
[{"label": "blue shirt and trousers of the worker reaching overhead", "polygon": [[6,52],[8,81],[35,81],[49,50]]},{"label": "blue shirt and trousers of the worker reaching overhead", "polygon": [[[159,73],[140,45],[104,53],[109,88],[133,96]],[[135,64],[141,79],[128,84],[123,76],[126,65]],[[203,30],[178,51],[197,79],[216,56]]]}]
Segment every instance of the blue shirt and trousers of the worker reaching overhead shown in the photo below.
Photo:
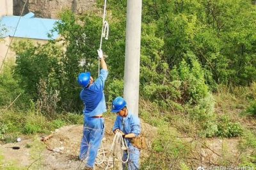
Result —
[{"label": "blue shirt and trousers of the worker reaching overhead", "polygon": [[107,111],[104,96],[104,84],[108,77],[108,71],[101,69],[98,79],[88,88],[83,88],[80,93],[84,102],[84,128],[79,158],[88,157],[86,166],[93,167],[97,157],[100,142],[104,137],[104,119],[93,118]]}]

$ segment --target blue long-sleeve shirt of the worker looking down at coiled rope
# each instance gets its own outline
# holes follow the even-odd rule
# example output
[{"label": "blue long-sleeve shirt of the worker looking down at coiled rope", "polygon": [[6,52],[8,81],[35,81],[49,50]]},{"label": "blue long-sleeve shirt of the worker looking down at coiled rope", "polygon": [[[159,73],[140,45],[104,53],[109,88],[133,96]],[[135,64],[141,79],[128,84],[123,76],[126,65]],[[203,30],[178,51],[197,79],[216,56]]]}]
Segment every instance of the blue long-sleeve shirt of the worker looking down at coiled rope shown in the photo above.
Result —
[{"label": "blue long-sleeve shirt of the worker looking down at coiled rope", "polygon": [[[140,119],[129,112],[125,118],[118,115],[113,127],[113,132],[115,132],[116,129],[121,130],[125,135],[135,134],[138,136],[141,132]],[[130,144],[129,139],[126,139],[126,142],[128,145]]]}]

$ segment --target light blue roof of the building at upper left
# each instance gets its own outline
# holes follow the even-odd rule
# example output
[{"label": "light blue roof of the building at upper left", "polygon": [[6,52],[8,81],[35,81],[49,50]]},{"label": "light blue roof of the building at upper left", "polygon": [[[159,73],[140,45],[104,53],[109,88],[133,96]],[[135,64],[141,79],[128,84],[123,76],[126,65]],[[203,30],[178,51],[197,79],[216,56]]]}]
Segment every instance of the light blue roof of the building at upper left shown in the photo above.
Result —
[{"label": "light blue roof of the building at upper left", "polygon": [[[53,29],[56,21],[58,20],[36,18],[35,14],[32,12],[24,15],[23,17],[4,16],[0,20],[1,26],[6,29],[6,31],[3,31],[4,33],[2,36],[31,38],[39,40],[55,40],[59,36],[57,32],[52,34],[52,38],[49,38],[47,34],[50,33],[50,31]],[[17,27],[16,32],[15,27]],[[15,35],[13,35],[14,33]]]}]

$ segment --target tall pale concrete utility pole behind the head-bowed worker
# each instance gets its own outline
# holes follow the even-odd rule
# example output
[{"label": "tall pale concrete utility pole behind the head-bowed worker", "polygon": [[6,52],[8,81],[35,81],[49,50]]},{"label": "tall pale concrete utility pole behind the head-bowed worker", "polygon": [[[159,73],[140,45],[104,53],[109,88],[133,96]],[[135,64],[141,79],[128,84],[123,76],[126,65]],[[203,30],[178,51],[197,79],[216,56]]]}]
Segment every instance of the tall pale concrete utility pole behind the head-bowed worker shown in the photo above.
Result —
[{"label": "tall pale concrete utility pole behind the head-bowed worker", "polygon": [[129,111],[138,116],[142,0],[127,1],[124,98]]}]

